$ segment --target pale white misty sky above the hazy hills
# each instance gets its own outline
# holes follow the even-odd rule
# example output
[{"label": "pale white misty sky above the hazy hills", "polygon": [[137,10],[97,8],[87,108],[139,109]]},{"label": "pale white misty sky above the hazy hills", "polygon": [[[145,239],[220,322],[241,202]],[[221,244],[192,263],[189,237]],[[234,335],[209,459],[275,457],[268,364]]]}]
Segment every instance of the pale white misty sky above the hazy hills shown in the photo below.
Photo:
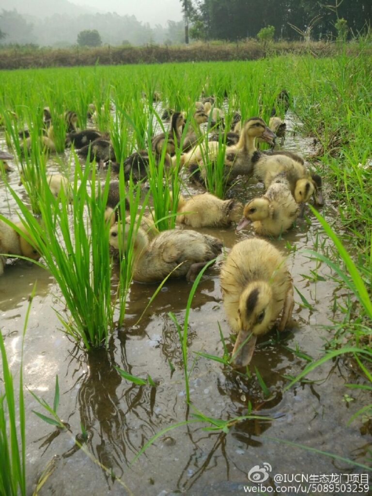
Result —
[{"label": "pale white misty sky above the hazy hills", "polygon": [[168,19],[182,19],[180,0],[70,0],[77,5],[97,9],[98,12],[117,12],[120,15],[135,15],[138,21],[150,25],[166,24]]}]

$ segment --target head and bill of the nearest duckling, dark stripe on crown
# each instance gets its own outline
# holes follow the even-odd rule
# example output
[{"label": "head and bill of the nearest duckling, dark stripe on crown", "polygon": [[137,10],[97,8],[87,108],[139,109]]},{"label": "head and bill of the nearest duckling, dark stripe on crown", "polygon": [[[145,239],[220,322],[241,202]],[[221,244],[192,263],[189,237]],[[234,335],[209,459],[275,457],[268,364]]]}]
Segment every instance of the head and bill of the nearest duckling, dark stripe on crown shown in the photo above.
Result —
[{"label": "head and bill of the nearest duckling, dark stripe on crown", "polygon": [[266,334],[275,323],[272,298],[271,286],[264,281],[251,282],[240,297],[238,310],[240,331],[233,350],[233,362],[238,367],[248,365],[257,336]]}]

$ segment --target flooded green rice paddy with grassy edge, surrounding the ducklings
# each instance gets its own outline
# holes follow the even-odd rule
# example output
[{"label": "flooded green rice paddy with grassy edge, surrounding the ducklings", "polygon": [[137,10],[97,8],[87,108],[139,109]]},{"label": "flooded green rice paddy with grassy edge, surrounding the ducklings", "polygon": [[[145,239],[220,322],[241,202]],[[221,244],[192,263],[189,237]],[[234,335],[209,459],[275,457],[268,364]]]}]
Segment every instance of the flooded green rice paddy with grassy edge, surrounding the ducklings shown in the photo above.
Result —
[{"label": "flooded green rice paddy with grassy edge, surrounding the ducklings", "polygon": [[[43,255],[39,265],[9,261],[0,276],[0,390],[6,391],[0,412],[10,417],[13,433],[9,465],[1,455],[13,492],[3,494],[295,494],[285,489],[295,474],[309,476],[296,479],[308,494],[370,494],[372,60],[366,48],[361,43],[353,57],[340,48],[331,59],[1,71],[0,149],[14,158],[0,179],[0,214],[24,218]],[[277,100],[284,88],[288,110]],[[119,179],[127,191],[133,230],[137,212],[150,208],[159,230],[174,228],[179,192],[205,189],[186,169],[163,174],[164,148],[158,162],[150,158],[147,181],[124,185],[123,172],[101,170],[64,143],[63,113],[73,111],[79,129],[109,133],[123,171],[124,158],[148,150],[151,136],[168,129],[164,109],[183,111],[187,128],[195,102],[210,95],[225,114],[226,131],[236,111],[242,121],[260,116],[268,123],[276,108],[287,125],[283,149],[300,153],[323,180],[324,205],[310,201],[291,230],[269,238],[293,278],[293,321],[284,333],[274,329],[259,338],[245,369],[230,363],[235,337],[219,273],[230,248],[253,231],[236,232],[235,224],[197,229],[225,249],[194,283],[131,281],[132,248],[121,263],[108,249],[109,181]],[[87,117],[91,103],[94,120]],[[56,153],[40,144],[46,106]],[[29,152],[18,138],[26,128]],[[221,149],[225,140],[222,130]],[[180,156],[176,146],[176,164]],[[71,203],[68,194],[56,200],[50,192],[46,174],[52,173],[70,180]],[[254,178],[224,187],[221,176],[212,176],[210,190],[220,197],[245,204],[264,192]]]}]

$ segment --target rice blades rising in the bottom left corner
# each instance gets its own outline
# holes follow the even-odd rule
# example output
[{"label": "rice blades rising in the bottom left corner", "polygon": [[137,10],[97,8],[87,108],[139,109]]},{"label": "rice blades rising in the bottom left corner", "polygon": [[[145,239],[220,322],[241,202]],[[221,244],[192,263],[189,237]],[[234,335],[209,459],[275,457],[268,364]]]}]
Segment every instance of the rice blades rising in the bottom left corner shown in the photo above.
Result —
[{"label": "rice blades rising in the bottom left corner", "polygon": [[[26,327],[35,296],[34,285],[23,324],[21,361],[19,366],[19,399],[15,402],[13,377],[9,370],[2,334],[0,352],[4,392],[0,391],[0,494],[26,496],[26,433],[25,406],[23,396],[23,344]],[[19,420],[17,420],[17,411]],[[7,425],[8,423],[8,425]]]}]

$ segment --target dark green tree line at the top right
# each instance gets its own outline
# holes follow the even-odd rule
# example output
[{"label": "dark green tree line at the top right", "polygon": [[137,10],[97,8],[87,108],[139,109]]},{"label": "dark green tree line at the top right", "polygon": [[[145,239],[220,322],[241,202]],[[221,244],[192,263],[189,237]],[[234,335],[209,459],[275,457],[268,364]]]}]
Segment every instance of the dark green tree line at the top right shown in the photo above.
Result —
[{"label": "dark green tree line at the top right", "polygon": [[[334,39],[337,21],[344,19],[349,36],[358,36],[371,25],[371,0],[181,0],[188,34],[204,40],[236,41],[255,38],[266,27],[275,28],[275,39]],[[333,3],[332,3],[333,2]]]}]

